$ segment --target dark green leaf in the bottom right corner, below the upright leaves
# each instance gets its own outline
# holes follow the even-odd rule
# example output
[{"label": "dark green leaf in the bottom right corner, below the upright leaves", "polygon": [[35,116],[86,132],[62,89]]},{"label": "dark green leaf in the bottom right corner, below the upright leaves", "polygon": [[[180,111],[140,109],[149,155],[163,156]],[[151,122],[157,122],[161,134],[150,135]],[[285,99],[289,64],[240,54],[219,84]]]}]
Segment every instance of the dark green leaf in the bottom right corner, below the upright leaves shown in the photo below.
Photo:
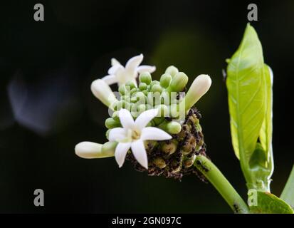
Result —
[{"label": "dark green leaf in the bottom right corner, below the upright leaves", "polygon": [[251,206],[250,211],[257,214],[294,214],[290,205],[269,192],[257,192],[257,205]]}]

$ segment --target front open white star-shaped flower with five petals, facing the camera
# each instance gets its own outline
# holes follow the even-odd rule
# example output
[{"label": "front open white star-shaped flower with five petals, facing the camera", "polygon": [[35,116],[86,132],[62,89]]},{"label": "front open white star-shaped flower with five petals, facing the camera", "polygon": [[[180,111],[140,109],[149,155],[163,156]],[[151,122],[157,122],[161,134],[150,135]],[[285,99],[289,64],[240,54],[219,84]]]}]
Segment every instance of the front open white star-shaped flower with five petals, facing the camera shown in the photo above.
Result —
[{"label": "front open white star-shaped flower with five petals, facing the camera", "polygon": [[145,150],[145,140],[169,140],[172,138],[169,134],[159,128],[146,127],[146,125],[157,116],[157,109],[146,110],[141,113],[134,121],[130,111],[121,109],[119,112],[122,128],[113,128],[110,130],[109,140],[117,141],[115,148],[115,160],[119,167],[125,162],[127,151],[132,149],[135,159],[148,169],[147,152]]}]

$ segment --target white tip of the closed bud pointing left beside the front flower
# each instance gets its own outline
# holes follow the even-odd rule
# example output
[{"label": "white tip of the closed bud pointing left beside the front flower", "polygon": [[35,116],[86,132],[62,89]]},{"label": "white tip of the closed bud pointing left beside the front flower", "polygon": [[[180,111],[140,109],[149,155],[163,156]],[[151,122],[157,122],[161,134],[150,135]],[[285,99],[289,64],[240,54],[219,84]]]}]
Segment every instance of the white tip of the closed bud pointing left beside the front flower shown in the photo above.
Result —
[{"label": "white tip of the closed bud pointing left beside the front flower", "polygon": [[95,142],[80,142],[75,145],[75,154],[83,158],[105,157],[101,153],[102,145]]}]

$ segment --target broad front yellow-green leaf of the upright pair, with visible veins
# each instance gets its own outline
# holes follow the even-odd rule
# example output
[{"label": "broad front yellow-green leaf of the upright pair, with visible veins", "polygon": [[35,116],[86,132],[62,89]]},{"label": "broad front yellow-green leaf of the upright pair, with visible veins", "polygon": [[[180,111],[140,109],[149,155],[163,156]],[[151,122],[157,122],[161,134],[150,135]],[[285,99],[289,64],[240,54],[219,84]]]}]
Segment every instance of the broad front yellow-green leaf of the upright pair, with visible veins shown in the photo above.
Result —
[{"label": "broad front yellow-green leaf of the upright pair, with visible veins", "polygon": [[242,155],[246,160],[256,148],[266,113],[262,76],[261,42],[254,28],[248,25],[241,45],[229,62],[226,80],[233,149],[238,158]]}]

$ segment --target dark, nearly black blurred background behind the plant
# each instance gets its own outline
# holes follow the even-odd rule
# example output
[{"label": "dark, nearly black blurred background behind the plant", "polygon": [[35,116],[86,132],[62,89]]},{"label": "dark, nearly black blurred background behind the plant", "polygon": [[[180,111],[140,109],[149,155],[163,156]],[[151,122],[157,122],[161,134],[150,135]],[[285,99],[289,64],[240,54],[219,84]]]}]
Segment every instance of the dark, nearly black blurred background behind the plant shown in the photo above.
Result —
[{"label": "dark, nearly black blurred background behind the plant", "polygon": [[[234,3],[232,3],[234,2]],[[45,21],[33,20],[41,3]],[[252,2],[250,2],[252,3]],[[190,83],[211,76],[202,113],[207,153],[246,197],[233,154],[222,69],[238,48],[247,21],[246,1],[1,1],[0,5],[0,212],[231,213],[214,188],[196,176],[182,182],[119,169],[114,159],[83,160],[78,142],[105,142],[107,108],[90,83],[107,75],[110,58],[139,53],[157,66],[174,65]],[[253,26],[273,68],[272,192],[280,195],[293,165],[294,2],[258,3]],[[115,86],[113,87],[115,88]],[[291,147],[292,146],[292,147]],[[45,207],[33,205],[33,191]]]}]

